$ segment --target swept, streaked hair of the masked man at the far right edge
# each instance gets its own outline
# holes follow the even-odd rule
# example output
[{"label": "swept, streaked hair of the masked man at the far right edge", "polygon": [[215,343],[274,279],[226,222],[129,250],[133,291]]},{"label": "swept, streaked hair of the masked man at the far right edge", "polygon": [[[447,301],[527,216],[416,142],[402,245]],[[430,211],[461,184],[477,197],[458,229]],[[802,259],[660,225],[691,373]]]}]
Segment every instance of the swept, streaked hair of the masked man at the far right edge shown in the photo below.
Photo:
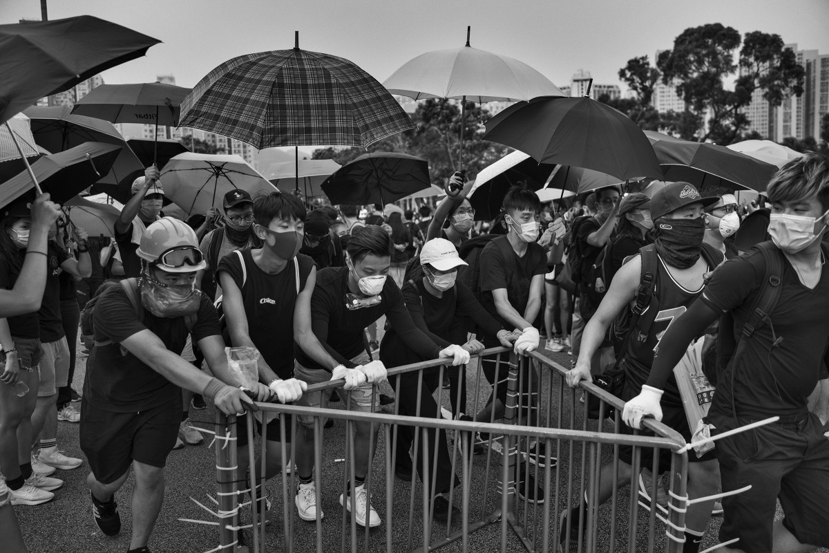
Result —
[{"label": "swept, streaked hair of the masked man at the far right edge", "polygon": [[823,211],[829,209],[829,159],[807,152],[774,173],[766,188],[768,201],[806,201],[817,196]]}]

